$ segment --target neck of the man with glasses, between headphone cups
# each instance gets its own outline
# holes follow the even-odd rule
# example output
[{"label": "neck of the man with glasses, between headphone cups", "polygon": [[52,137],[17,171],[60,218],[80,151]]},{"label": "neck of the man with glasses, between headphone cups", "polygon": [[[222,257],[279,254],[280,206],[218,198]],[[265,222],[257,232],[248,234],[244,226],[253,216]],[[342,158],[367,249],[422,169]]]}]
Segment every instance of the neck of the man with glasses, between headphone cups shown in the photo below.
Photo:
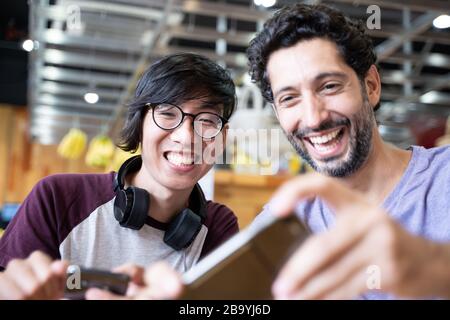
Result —
[{"label": "neck of the man with glasses, between headphone cups", "polygon": [[142,163],[141,169],[130,179],[133,186],[147,190],[150,195],[148,215],[153,219],[167,223],[189,202],[192,188],[172,190],[157,183]]}]

